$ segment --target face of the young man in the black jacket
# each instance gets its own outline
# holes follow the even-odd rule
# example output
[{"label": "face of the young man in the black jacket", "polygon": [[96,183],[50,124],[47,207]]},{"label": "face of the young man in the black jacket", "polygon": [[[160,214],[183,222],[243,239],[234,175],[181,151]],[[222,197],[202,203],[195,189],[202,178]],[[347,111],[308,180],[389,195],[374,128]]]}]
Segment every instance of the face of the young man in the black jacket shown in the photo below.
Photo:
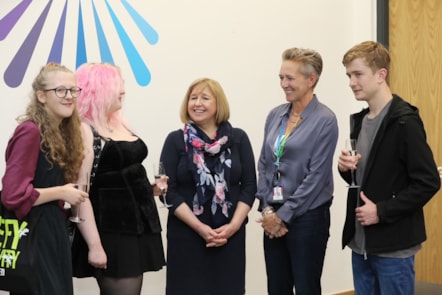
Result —
[{"label": "face of the young man in the black jacket", "polygon": [[386,69],[371,69],[362,58],[356,58],[346,65],[349,86],[357,100],[370,101],[380,91],[385,82]]}]

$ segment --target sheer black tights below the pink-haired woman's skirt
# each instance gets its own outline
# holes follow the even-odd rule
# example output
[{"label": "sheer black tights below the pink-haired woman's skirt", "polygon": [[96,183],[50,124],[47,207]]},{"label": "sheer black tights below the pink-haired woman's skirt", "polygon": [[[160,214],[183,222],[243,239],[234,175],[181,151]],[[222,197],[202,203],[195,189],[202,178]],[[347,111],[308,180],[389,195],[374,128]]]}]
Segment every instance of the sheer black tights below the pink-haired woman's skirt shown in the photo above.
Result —
[{"label": "sheer black tights below the pink-haired woman's skirt", "polygon": [[100,295],[140,295],[143,275],[130,278],[97,278]]}]

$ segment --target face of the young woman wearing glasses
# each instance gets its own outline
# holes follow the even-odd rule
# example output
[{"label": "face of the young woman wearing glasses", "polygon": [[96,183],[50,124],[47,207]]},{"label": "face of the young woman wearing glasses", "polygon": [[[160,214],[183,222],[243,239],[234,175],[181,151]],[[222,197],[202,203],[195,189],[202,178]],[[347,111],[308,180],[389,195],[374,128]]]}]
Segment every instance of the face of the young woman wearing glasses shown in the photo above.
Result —
[{"label": "face of the young woman wearing glasses", "polygon": [[[64,71],[48,72],[46,81],[45,89],[54,89],[57,87],[71,89],[77,86],[75,75]],[[63,119],[72,116],[75,107],[75,98],[72,97],[70,91],[67,92],[64,98],[59,98],[53,90],[39,90],[37,92],[37,98],[38,101],[44,105],[49,117],[61,122]]]}]

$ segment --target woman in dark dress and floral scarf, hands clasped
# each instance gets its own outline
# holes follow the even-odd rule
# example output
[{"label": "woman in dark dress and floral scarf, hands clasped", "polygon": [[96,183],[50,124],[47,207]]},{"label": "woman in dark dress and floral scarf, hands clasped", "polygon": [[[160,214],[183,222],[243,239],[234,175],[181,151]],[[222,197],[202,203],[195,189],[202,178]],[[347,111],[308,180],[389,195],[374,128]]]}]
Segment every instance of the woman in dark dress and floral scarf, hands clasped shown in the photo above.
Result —
[{"label": "woman in dark dress and floral scarf, hands clasped", "polygon": [[256,193],[247,134],[228,122],[218,82],[193,82],[181,106],[183,129],[161,153],[169,176],[168,295],[245,294],[245,225]]}]

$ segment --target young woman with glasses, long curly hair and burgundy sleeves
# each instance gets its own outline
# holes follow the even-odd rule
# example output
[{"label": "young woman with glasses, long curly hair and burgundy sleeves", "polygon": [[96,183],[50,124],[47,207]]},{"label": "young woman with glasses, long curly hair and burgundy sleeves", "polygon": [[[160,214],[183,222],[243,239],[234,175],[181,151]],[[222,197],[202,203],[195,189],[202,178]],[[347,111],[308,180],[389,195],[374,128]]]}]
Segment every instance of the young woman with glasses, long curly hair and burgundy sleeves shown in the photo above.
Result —
[{"label": "young woman with glasses, long curly hair and burgundy sleeves", "polygon": [[39,294],[73,294],[64,203],[77,205],[88,197],[73,184],[84,158],[75,106],[80,93],[71,70],[55,63],[43,66],[6,148],[2,203],[18,218],[38,215]]}]

